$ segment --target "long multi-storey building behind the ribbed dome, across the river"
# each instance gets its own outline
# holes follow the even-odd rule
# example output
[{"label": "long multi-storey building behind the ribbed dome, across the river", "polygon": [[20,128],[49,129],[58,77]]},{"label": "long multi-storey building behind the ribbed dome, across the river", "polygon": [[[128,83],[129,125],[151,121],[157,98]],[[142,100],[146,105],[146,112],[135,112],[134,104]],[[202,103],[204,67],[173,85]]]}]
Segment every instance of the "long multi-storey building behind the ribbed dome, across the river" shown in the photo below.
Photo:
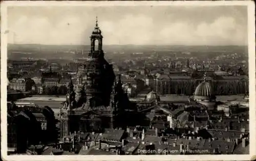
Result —
[{"label": "long multi-storey building behind the ribbed dome, across the river", "polygon": [[[153,88],[159,94],[193,95],[196,87],[204,81],[202,75],[159,74],[154,79]],[[248,77],[245,75],[220,76],[207,72],[206,79],[212,83],[216,95],[246,94],[248,92]]]}]

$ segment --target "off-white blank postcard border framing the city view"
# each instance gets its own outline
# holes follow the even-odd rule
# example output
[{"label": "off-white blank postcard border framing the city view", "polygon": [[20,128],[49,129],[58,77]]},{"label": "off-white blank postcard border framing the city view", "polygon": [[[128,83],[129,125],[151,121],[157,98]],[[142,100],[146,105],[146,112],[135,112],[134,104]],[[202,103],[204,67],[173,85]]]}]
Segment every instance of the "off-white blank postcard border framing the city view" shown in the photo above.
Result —
[{"label": "off-white blank postcard border framing the city view", "polygon": [[[7,7],[8,6],[247,6],[249,53],[249,130],[248,155],[7,155]],[[256,77],[255,77],[255,5],[253,1],[152,1],[152,2],[80,2],[80,1],[2,1],[1,2],[1,153],[3,160],[251,160],[256,154]]]}]

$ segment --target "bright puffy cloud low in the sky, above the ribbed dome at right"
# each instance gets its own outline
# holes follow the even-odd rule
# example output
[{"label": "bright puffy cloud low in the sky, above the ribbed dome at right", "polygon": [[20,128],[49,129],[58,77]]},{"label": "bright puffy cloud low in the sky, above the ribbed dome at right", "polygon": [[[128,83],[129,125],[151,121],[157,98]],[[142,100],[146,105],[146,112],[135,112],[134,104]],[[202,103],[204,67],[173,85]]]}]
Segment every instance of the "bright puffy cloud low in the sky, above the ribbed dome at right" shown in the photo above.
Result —
[{"label": "bright puffy cloud low in the sky, above the ribbed dome at right", "polygon": [[212,23],[196,25],[186,21],[173,22],[161,30],[161,36],[169,43],[189,45],[245,45],[246,33],[233,17],[220,17]]}]

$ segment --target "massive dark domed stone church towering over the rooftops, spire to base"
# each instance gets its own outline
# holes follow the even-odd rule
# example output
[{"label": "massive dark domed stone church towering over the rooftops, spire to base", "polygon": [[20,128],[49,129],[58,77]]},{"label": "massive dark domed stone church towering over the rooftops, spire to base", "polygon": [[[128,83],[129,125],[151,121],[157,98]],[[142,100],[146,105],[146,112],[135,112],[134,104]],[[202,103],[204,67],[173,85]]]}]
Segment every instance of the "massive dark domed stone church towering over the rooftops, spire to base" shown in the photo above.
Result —
[{"label": "massive dark domed stone church towering over the rooftops, spire to base", "polygon": [[74,131],[102,131],[113,128],[116,114],[114,104],[115,74],[104,59],[101,31],[96,26],[91,34],[91,51],[77,72],[77,87],[72,79],[67,100],[60,110],[60,137]]}]

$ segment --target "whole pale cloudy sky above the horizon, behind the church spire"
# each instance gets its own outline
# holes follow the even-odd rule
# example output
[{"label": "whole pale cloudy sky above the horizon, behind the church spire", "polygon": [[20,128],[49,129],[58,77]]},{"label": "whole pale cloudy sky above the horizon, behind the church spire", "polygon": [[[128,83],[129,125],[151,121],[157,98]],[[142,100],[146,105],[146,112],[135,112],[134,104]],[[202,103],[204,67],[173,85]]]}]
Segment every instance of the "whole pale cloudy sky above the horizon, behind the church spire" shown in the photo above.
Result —
[{"label": "whole pale cloudy sky above the horizon, behind the church spire", "polygon": [[247,45],[246,6],[8,7],[8,43]]}]

